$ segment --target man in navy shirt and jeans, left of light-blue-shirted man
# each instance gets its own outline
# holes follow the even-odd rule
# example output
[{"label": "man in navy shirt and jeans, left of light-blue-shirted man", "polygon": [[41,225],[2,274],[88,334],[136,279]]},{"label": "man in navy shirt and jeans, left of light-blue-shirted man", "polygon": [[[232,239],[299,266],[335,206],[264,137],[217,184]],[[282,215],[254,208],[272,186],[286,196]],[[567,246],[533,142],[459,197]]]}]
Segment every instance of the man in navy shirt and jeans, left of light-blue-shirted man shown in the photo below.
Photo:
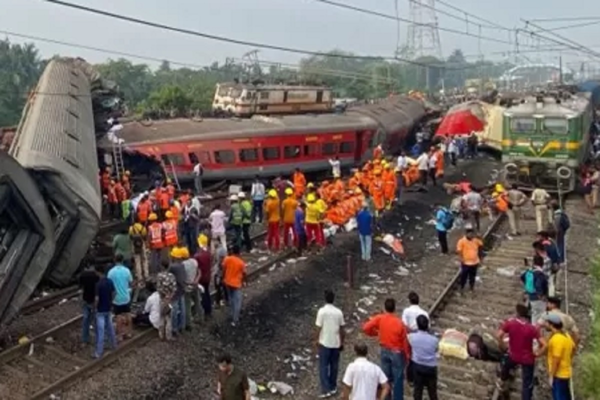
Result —
[{"label": "man in navy shirt and jeans, left of light-blue-shirted man", "polygon": [[113,297],[115,296],[115,286],[113,282],[106,278],[106,267],[102,265],[96,266],[96,272],[100,280],[96,284],[96,350],[94,358],[102,357],[104,353],[104,331],[109,335],[112,348],[116,348],[115,327],[112,324],[112,315],[110,307]]}]

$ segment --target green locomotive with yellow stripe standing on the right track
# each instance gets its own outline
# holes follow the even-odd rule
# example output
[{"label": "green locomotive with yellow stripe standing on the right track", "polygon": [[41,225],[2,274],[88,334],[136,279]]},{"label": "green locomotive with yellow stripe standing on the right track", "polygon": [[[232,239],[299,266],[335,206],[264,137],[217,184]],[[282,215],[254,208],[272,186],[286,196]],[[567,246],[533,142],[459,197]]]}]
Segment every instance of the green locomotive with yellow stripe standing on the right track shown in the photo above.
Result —
[{"label": "green locomotive with yellow stripe standing on the right track", "polygon": [[593,107],[589,93],[526,98],[504,112],[506,181],[523,189],[569,192],[589,154]]}]

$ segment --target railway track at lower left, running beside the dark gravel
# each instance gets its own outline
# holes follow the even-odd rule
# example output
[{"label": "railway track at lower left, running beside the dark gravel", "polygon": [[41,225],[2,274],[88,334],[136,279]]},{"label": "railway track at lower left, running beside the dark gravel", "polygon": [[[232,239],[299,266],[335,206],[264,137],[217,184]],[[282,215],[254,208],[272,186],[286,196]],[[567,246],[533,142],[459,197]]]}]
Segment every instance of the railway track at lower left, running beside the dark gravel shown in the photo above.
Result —
[{"label": "railway track at lower left, running beside the dark gravel", "polygon": [[[262,240],[265,234],[254,235],[254,242]],[[254,281],[293,254],[295,251],[287,250],[268,260],[249,263],[248,281]],[[77,315],[0,353],[0,398],[47,399],[158,338],[155,329],[134,328],[133,338],[120,343],[116,350],[107,349],[101,359],[91,360],[92,348],[81,343],[81,323],[82,315]]]}]

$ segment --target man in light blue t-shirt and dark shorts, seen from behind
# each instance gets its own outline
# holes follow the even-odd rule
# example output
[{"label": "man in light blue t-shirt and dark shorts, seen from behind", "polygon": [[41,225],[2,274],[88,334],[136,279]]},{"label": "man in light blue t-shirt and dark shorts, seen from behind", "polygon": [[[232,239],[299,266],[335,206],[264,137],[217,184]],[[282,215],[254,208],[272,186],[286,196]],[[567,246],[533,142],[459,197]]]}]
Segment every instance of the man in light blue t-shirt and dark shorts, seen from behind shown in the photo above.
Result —
[{"label": "man in light blue t-shirt and dark shorts, seen from behind", "polygon": [[107,277],[115,287],[113,310],[116,315],[116,333],[120,338],[131,338],[131,271],[123,265],[123,256],[115,255],[115,266]]}]

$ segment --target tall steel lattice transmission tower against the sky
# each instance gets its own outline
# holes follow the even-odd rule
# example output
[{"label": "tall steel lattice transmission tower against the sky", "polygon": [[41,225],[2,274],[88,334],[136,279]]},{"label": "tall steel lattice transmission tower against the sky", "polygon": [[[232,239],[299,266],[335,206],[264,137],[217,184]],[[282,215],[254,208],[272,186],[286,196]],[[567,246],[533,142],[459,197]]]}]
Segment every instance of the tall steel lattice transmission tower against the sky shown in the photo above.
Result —
[{"label": "tall steel lattice transmission tower against the sky", "polygon": [[410,59],[424,56],[442,59],[442,45],[435,10],[435,0],[409,0],[411,23],[404,49],[397,50],[399,55]]}]

